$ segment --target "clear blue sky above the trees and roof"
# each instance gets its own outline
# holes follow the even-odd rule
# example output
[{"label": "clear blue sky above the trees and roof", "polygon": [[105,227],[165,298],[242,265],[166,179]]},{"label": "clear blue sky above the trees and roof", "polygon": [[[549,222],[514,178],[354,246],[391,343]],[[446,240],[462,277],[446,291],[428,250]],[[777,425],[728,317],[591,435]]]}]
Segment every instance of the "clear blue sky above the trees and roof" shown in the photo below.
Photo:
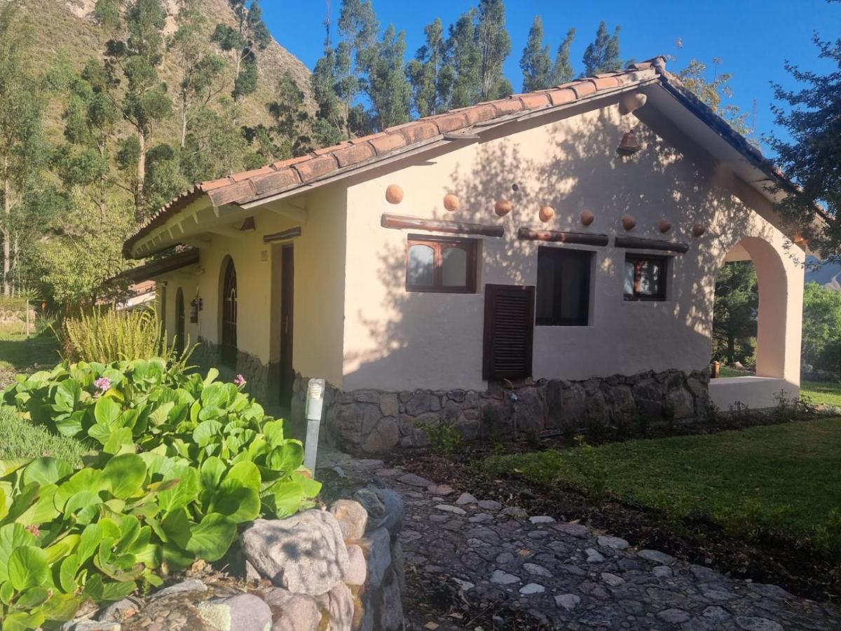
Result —
[{"label": "clear blue sky above the trees and roof", "polygon": [[[336,23],[341,0],[332,0]],[[374,0],[381,24],[394,23],[405,30],[407,57],[423,43],[423,27],[440,17],[445,27],[475,2],[468,0]],[[507,24],[511,55],[505,74],[516,90],[522,85],[519,67],[522,48],[535,15],[541,15],[546,43],[553,51],[570,27],[577,30],[572,50],[575,72],[580,72],[584,48],[595,36],[600,20],[609,29],[621,26],[621,55],[637,61],[669,53],[677,71],[696,57],[711,61],[722,58],[722,71],[733,73],[732,102],[750,111],[757,102],[756,128],[760,134],[775,130],[770,103],[770,82],[793,87],[783,69],[786,59],[803,68],[828,72],[830,64],[817,59],[812,32],[824,39],[841,36],[841,5],[825,0],[665,0],[637,2],[563,2],[563,0],[508,0]],[[324,41],[322,25],[325,0],[263,0],[263,13],[275,39],[312,68],[320,57]],[[335,30],[334,30],[335,32]],[[683,41],[677,50],[675,40]],[[767,151],[767,149],[766,149]]]}]

